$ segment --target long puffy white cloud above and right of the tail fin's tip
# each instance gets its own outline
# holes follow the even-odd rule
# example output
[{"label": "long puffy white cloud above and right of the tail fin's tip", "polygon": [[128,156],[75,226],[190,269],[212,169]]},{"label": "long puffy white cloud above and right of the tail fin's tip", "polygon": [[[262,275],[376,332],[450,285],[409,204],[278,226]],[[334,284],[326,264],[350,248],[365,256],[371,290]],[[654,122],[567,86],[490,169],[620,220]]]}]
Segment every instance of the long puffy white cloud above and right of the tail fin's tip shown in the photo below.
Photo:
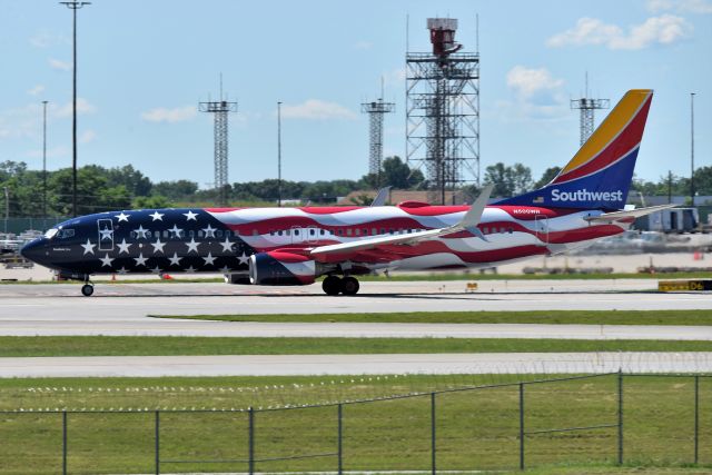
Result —
[{"label": "long puffy white cloud above and right of the tail fin's tip", "polygon": [[616,24],[596,18],[581,18],[576,26],[546,40],[546,46],[602,44],[613,50],[640,50],[654,44],[672,44],[692,34],[692,24],[674,14],[651,17],[629,28],[627,33]]}]

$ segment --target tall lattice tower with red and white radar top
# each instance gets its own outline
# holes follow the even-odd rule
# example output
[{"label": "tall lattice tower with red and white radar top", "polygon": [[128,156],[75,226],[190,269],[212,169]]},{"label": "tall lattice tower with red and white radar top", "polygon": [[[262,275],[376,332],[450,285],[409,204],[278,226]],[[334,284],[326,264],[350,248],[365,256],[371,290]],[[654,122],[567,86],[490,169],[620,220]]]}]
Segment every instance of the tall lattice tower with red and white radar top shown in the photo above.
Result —
[{"label": "tall lattice tower with red and white radar top", "polygon": [[479,182],[479,52],[461,52],[457,19],[428,18],[432,52],[406,52],[406,157],[428,200]]}]

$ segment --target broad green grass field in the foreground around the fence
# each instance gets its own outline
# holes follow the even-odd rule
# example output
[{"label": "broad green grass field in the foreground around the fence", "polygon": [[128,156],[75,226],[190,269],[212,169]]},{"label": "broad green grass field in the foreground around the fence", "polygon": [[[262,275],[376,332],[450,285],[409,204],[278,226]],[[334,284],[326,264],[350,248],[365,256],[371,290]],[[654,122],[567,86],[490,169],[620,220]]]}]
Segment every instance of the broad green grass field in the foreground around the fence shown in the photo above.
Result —
[{"label": "broad green grass field in the foreground around the fence", "polygon": [[[457,379],[459,378],[459,379]],[[39,407],[95,409],[121,407],[130,413],[72,413],[68,416],[71,473],[151,473],[155,414],[136,408],[196,408],[257,405],[257,459],[334,454],[337,408],[274,409],[286,404],[353,400],[503,384],[531,376],[411,376],[353,382],[339,378],[108,378],[0,380],[0,406],[26,409],[0,414],[0,474],[57,472],[61,455],[61,415]],[[525,386],[525,431],[615,424],[615,375]],[[693,379],[632,377],[623,383],[624,456],[631,465],[673,466],[693,457]],[[180,390],[184,388],[185,390]],[[40,390],[41,389],[41,390]],[[81,392],[80,392],[81,389]],[[90,390],[91,389],[91,390]],[[101,390],[99,390],[101,389]],[[110,392],[108,389],[111,389]],[[233,389],[231,392],[229,389]],[[293,399],[296,398],[296,399]],[[298,399],[298,400],[297,400]],[[490,387],[436,396],[438,469],[512,469],[518,465],[518,387]],[[33,412],[29,412],[33,408]],[[346,404],[343,407],[344,469],[428,469],[431,397]],[[712,469],[712,379],[700,380],[700,462]],[[161,471],[244,472],[247,458],[246,412],[167,412],[160,415]],[[612,468],[616,428],[530,435],[527,466],[536,474],[688,473],[672,468]],[[28,444],[27,441],[32,441]],[[166,462],[174,461],[174,462]],[[334,471],[335,456],[258,462],[258,471]],[[565,466],[556,466],[566,464]],[[705,473],[704,469],[690,473]]]}]

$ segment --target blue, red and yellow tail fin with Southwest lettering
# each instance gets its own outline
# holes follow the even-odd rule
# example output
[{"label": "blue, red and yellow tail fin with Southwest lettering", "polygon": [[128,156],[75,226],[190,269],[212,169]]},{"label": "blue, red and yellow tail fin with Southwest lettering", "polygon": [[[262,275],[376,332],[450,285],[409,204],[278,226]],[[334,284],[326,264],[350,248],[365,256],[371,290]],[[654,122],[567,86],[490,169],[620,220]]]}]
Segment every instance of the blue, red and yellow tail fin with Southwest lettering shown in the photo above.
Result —
[{"label": "blue, red and yellow tail fin with Southwest lettering", "polygon": [[497,205],[623,209],[643,138],[651,89],[633,89],[546,186]]}]

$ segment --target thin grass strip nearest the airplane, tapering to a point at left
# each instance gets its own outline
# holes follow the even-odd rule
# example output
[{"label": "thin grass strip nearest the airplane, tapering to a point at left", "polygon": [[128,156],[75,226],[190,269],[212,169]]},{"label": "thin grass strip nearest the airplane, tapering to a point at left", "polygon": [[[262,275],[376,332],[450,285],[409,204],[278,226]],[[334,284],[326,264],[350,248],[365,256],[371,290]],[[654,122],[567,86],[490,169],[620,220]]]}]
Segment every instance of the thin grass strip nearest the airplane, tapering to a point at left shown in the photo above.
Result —
[{"label": "thin grass strip nearest the airplane, tapering to a point at left", "polygon": [[390,314],[151,315],[151,317],[276,323],[712,325],[712,310],[404,311]]}]

